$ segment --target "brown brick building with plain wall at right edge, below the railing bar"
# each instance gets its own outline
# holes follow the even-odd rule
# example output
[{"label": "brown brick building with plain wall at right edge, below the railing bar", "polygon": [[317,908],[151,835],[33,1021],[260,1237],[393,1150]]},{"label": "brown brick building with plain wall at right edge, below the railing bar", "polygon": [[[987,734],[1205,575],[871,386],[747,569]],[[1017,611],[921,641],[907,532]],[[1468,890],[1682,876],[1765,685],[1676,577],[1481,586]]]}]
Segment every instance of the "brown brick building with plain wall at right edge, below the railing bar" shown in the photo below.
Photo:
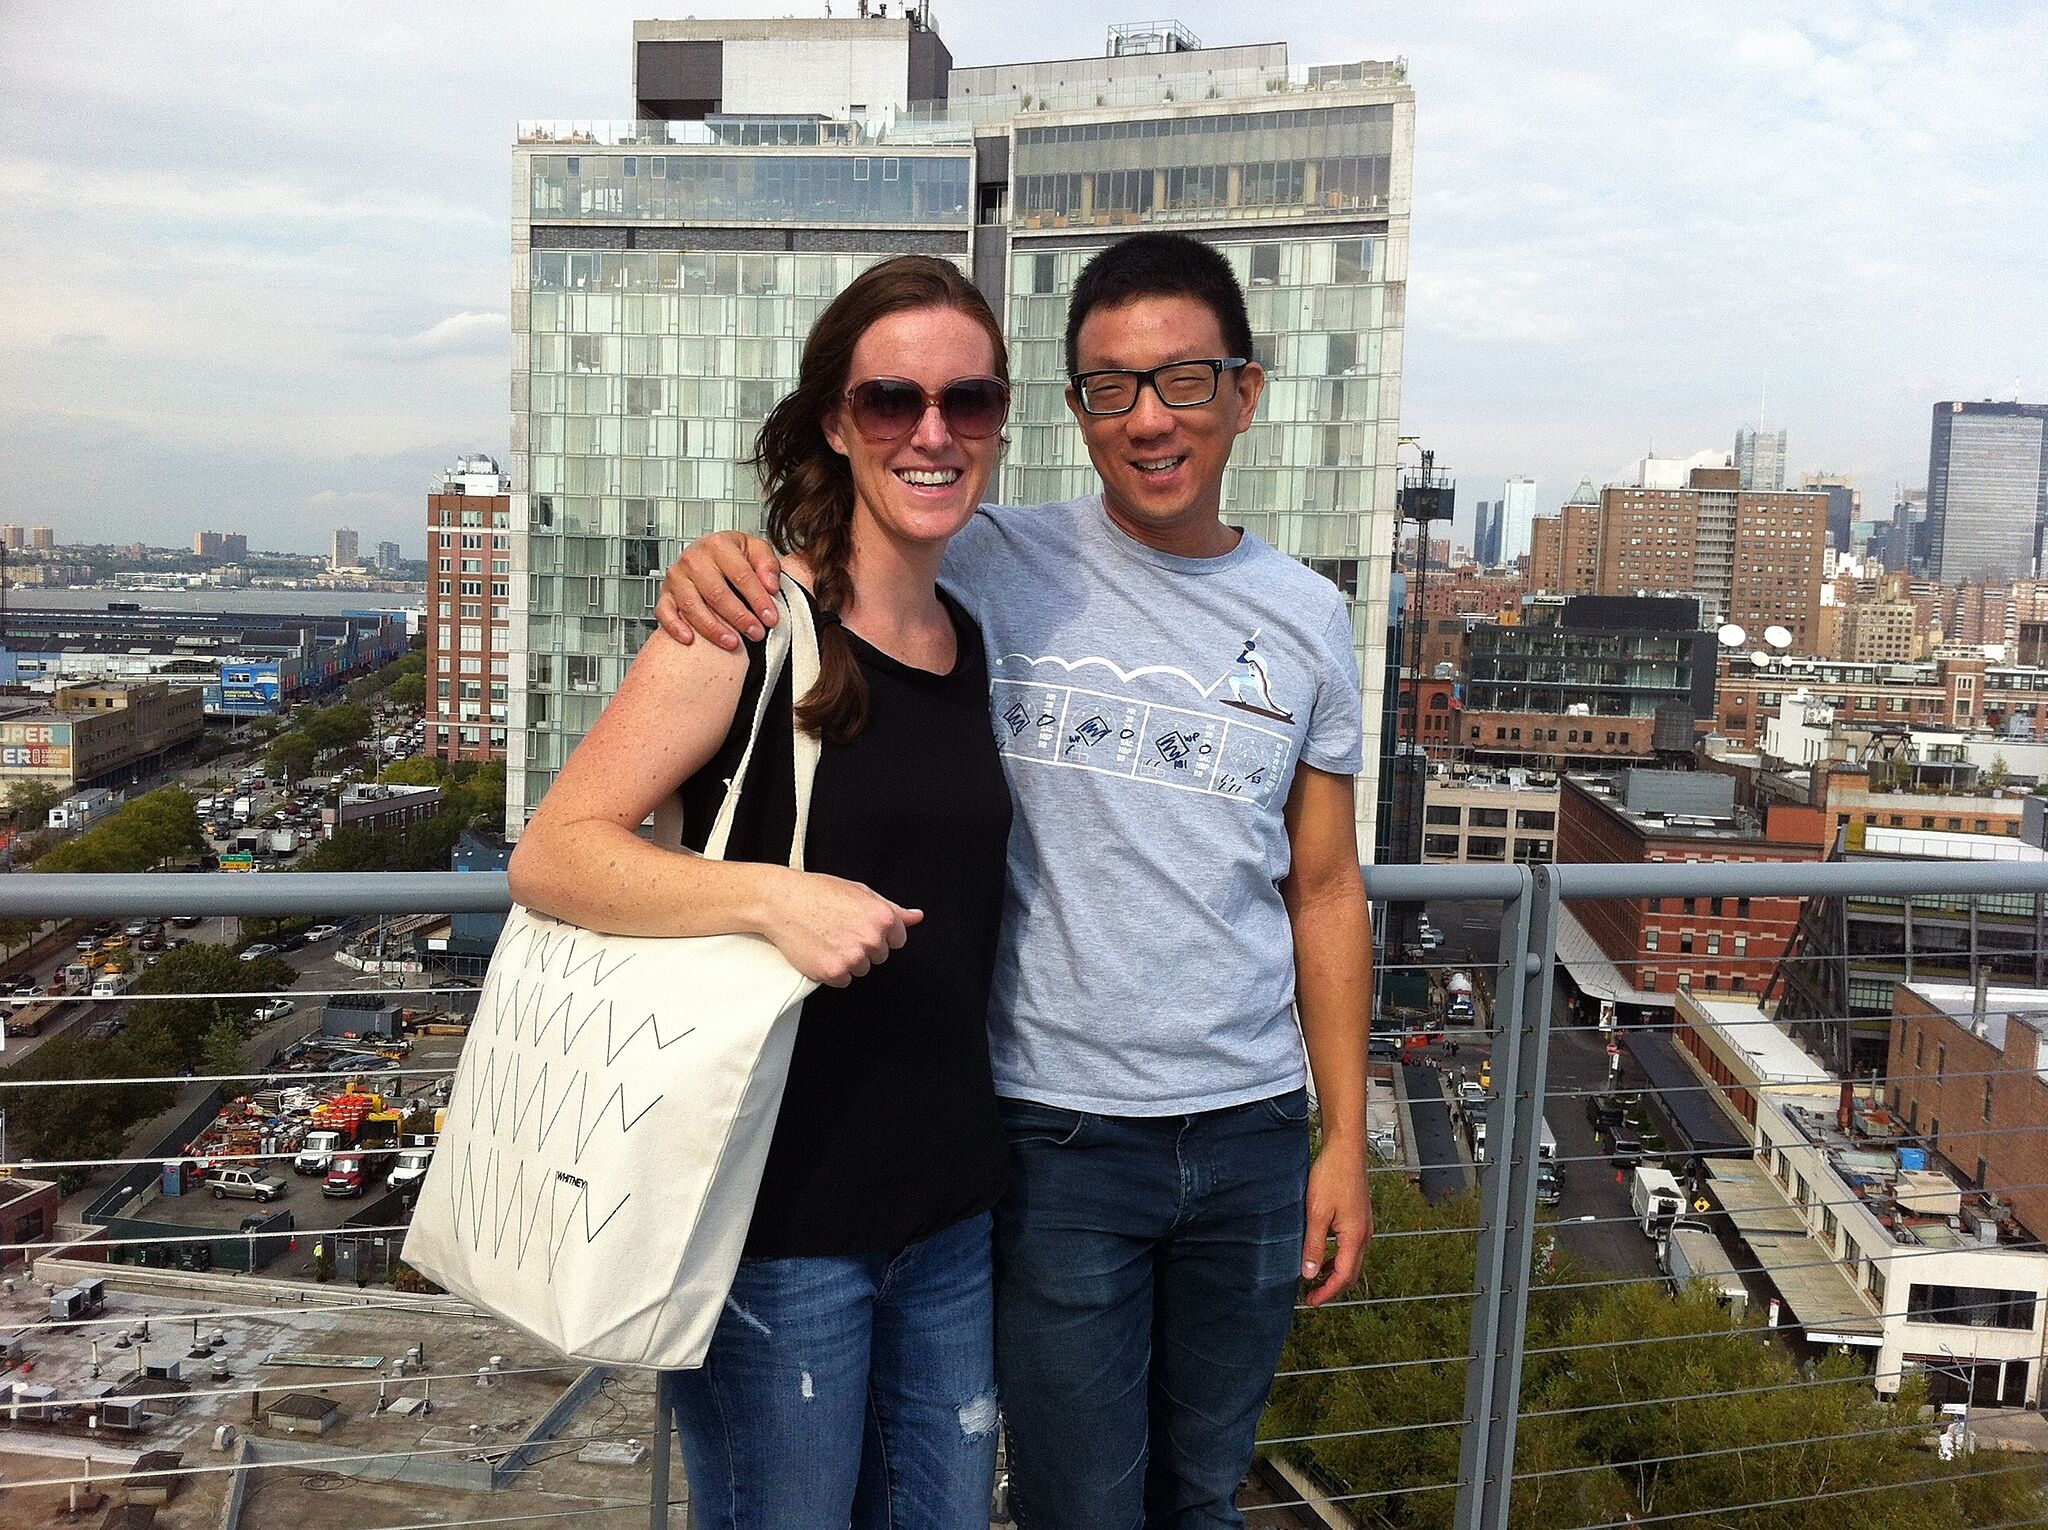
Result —
[{"label": "brown brick building with plain wall at right edge, below the railing bar", "polygon": [[1898,983],[1886,1100],[1966,1180],[2048,1227],[2048,991]]}]

